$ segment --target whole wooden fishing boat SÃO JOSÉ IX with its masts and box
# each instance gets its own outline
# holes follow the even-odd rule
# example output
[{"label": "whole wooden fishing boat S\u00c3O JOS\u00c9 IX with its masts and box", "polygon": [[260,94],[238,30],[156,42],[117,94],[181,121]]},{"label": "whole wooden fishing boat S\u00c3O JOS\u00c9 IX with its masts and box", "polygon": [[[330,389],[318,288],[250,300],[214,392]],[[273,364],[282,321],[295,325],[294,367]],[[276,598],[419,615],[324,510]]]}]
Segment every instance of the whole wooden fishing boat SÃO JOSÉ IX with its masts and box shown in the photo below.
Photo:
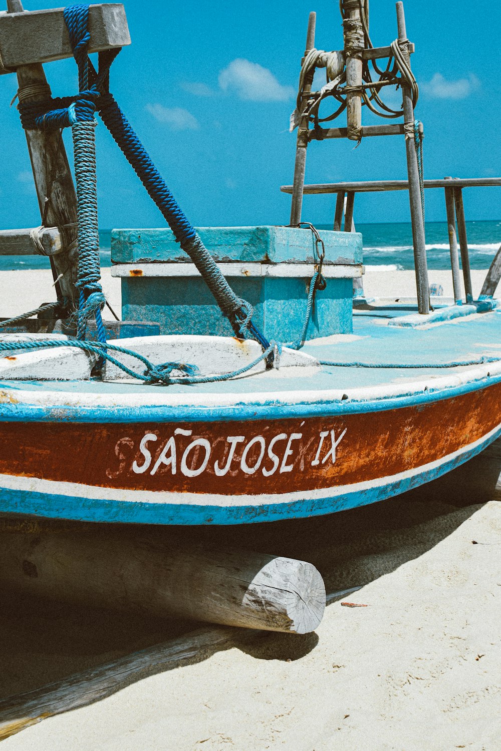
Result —
[{"label": "whole wooden fishing boat S\u00c3O JOS\u00c9 IX with its masts and box", "polygon": [[[9,10],[22,10],[19,5],[13,0]],[[441,182],[452,222],[455,200],[466,300],[460,291],[457,243],[451,231],[454,300],[432,297],[430,312],[420,195],[426,185],[421,179],[420,186],[419,131],[412,109],[415,80],[403,11],[397,4],[399,39],[391,48],[370,49],[369,54],[364,44],[367,19],[357,3],[345,5],[344,19],[362,29],[358,44],[364,50],[358,54],[356,40],[349,36],[343,55],[337,53],[340,72],[330,74],[331,83],[348,86],[344,92],[348,127],[318,131],[321,121],[318,106],[315,109],[318,98],[311,92],[312,73],[315,65],[328,67],[333,61],[317,55],[311,63],[310,53],[318,53],[312,17],[298,99],[294,186],[285,188],[293,194],[291,226],[200,229],[181,241],[191,259],[179,249],[180,229],[174,220],[174,233],[117,231],[113,273],[122,278],[125,320],[113,324],[112,336],[111,324],[101,321],[102,297],[92,297],[99,294],[98,277],[90,283],[89,274],[82,274],[82,262],[78,270],[75,265],[77,202],[57,146],[59,127],[68,123],[80,143],[88,121],[78,108],[92,99],[88,84],[80,86],[80,95],[69,104],[62,103],[68,122],[57,120],[53,130],[37,129],[40,119],[47,123],[55,106],[47,104],[47,91],[40,94],[47,85],[41,80],[41,62],[70,56],[74,50],[81,72],[87,65],[77,56],[81,38],[71,31],[71,17],[64,17],[68,36],[62,11],[50,11],[53,46],[46,44],[40,50],[35,37],[30,57],[22,43],[26,34],[32,34],[29,27],[35,28],[30,24],[36,22],[36,14],[11,12],[0,17],[4,66],[0,72],[15,70],[20,80],[20,109],[41,205],[47,204],[49,195],[49,204],[57,204],[59,217],[65,217],[62,222],[47,218],[46,212],[44,226],[35,234],[17,231],[9,240],[4,233],[0,242],[13,247],[14,237],[17,252],[20,247],[30,252],[33,243],[43,247],[58,277],[58,304],[62,308],[63,297],[67,303],[59,323],[38,318],[3,325],[7,333],[0,336],[5,354],[0,359],[0,511],[184,525],[330,514],[437,478],[501,435],[501,317],[493,299],[499,281],[496,262],[484,293],[474,301],[460,213],[463,185]],[[99,87],[109,58],[128,44],[122,6],[92,6],[89,29],[86,52],[97,50],[106,63],[104,74],[98,71],[90,77],[96,101],[99,96],[104,101],[110,95]],[[348,33],[346,29],[345,23]],[[392,80],[403,89],[404,124],[363,128],[362,67],[385,56],[393,56]],[[331,86],[333,91],[342,94]],[[95,109],[120,143],[109,99],[106,104],[98,102]],[[409,123],[412,137],[407,137]],[[324,192],[338,195],[334,231],[319,237],[315,228],[300,226],[302,196],[308,190],[304,164],[309,140],[346,136],[360,140],[380,134],[406,135],[409,179],[403,187],[409,189],[415,240],[415,303],[364,297],[357,281],[364,271],[361,236],[351,231],[357,191],[353,184],[351,188],[323,186]],[[132,163],[128,146],[120,145]],[[59,164],[59,186],[47,185],[47,174],[41,173],[37,157],[42,150],[52,164]],[[140,167],[134,169],[139,173]],[[78,159],[76,170],[80,254],[87,253],[88,260],[92,251],[95,260],[95,229],[89,252],[86,246],[86,210],[95,192],[79,173]],[[143,182],[150,177],[151,173],[143,174]],[[152,182],[146,187],[155,192]],[[346,192],[349,231],[341,232]],[[199,240],[212,261],[212,282],[216,276],[219,281],[228,279],[236,297],[231,297],[226,282],[222,291],[213,287],[205,291],[198,272],[205,280],[210,276],[207,255],[201,261],[193,250]],[[72,329],[68,315],[68,300],[73,301],[73,309],[77,307],[77,273],[83,294],[79,329],[87,330],[87,338]],[[217,300],[213,295],[219,295]],[[253,317],[243,298],[252,304]],[[235,308],[228,313],[226,303],[235,299],[240,307],[236,314]],[[90,314],[97,316],[93,329],[87,320]],[[98,340],[103,328],[107,339]],[[134,353],[140,356],[139,363]]]}]

